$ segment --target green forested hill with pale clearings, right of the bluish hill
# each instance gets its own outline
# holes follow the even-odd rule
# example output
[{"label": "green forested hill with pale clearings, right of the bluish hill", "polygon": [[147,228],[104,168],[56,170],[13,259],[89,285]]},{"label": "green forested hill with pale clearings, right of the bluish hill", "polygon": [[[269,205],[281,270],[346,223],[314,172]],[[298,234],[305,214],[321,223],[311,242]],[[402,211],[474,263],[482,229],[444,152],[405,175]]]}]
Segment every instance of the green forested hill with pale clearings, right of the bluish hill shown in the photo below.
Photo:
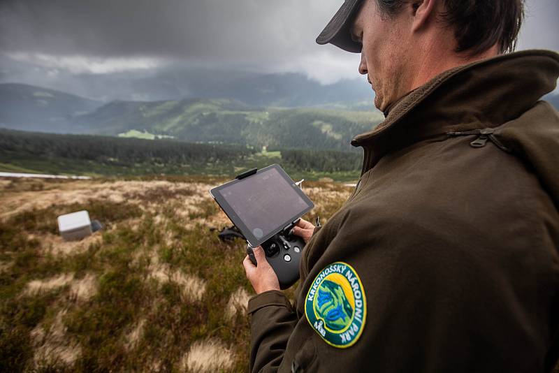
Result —
[{"label": "green forested hill with pale clearings, right of the bluish hill", "polygon": [[115,101],[75,118],[88,133],[117,136],[131,130],[187,142],[219,142],[268,149],[352,151],[349,142],[382,121],[370,111],[324,108],[252,108],[226,99]]}]

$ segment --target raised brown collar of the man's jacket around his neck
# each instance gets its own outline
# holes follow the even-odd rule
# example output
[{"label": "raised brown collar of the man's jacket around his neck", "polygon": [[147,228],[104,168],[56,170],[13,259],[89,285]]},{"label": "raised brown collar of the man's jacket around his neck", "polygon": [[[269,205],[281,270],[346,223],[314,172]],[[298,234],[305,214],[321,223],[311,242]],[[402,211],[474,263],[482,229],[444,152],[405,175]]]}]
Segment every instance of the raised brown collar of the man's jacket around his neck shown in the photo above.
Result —
[{"label": "raised brown collar of the man's jacket around his neck", "polygon": [[558,76],[559,54],[547,50],[502,54],[459,66],[400,98],[389,107],[384,122],[356,136],[351,145],[372,151],[365,154],[365,172],[386,153],[414,142],[508,122],[551,92]]}]

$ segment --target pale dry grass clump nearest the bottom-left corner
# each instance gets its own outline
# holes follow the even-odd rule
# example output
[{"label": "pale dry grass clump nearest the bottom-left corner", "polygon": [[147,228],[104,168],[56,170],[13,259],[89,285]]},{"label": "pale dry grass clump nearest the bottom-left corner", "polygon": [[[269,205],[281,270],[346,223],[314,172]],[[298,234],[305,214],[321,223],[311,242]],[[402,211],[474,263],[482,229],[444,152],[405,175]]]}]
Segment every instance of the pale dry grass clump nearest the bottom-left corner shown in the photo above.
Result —
[{"label": "pale dry grass clump nearest the bottom-left corner", "polygon": [[80,345],[66,335],[66,326],[62,320],[65,314],[65,310],[60,311],[48,330],[43,326],[36,326],[31,330],[36,369],[60,364],[71,366],[80,356],[82,351]]}]

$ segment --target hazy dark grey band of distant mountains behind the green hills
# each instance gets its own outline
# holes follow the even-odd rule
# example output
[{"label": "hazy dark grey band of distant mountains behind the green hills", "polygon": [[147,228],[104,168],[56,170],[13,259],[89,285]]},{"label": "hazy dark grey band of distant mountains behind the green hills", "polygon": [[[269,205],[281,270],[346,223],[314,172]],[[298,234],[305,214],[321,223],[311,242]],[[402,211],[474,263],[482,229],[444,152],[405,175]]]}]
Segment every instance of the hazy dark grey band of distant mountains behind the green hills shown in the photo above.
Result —
[{"label": "hazy dark grey band of distant mountains behind the green hills", "polygon": [[365,77],[322,85],[302,73],[263,73],[235,68],[173,64],[139,71],[74,73],[38,68],[0,53],[0,83],[18,82],[110,101],[164,101],[233,98],[251,106],[303,107],[334,103],[374,110],[375,96]]}]

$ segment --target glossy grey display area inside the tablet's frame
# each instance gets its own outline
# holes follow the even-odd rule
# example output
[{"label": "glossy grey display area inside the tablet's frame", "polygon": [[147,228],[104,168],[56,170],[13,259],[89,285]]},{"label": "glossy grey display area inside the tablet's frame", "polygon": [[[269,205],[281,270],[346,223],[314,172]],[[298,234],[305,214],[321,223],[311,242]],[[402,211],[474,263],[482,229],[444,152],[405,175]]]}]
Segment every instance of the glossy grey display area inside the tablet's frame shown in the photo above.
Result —
[{"label": "glossy grey display area inside the tablet's frame", "polygon": [[221,193],[256,238],[268,235],[308,207],[275,168],[227,186]]}]

